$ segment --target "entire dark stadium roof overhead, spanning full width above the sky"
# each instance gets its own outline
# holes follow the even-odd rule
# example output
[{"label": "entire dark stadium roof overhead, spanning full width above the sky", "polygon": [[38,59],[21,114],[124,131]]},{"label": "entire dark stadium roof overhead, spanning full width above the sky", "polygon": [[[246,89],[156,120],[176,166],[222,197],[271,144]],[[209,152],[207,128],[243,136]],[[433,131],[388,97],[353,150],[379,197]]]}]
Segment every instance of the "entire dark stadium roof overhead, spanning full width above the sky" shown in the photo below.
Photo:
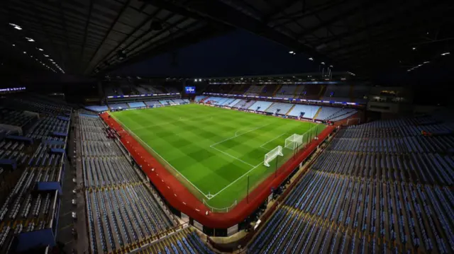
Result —
[{"label": "entire dark stadium roof overhead, spanning full width above the sky", "polygon": [[104,74],[235,28],[355,73],[413,71],[453,50],[449,0],[16,0],[3,6],[2,54],[75,74]]}]

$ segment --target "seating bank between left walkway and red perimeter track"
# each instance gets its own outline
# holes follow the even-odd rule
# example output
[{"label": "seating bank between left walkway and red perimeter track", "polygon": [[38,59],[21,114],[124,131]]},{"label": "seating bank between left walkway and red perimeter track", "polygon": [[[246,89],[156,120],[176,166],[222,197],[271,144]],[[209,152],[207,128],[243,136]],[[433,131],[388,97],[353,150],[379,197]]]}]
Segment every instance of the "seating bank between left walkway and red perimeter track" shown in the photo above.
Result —
[{"label": "seating bank between left walkway and red perimeter track", "polygon": [[94,253],[142,246],[176,226],[123,146],[99,117],[79,115],[89,248]]}]

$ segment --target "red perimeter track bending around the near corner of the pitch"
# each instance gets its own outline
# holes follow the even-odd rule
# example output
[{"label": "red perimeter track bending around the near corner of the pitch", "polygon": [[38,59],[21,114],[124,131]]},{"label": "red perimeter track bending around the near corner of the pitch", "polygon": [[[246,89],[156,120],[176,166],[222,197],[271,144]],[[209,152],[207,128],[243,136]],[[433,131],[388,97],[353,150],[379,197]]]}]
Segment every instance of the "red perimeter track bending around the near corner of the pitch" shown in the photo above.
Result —
[{"label": "red perimeter track bending around the near corner of the pitch", "polygon": [[[182,183],[179,183],[179,180],[169,173],[160,162],[153,158],[114,118],[109,117],[109,113],[104,112],[101,114],[101,117],[107,125],[120,134],[121,143],[128,149],[135,161],[142,167],[142,171],[148,175],[148,178],[150,178],[155,187],[157,187],[157,190],[159,190],[161,195],[165,197],[172,207],[187,214],[192,219],[199,221],[202,225],[214,229],[228,229],[242,222],[267,199],[268,195],[270,195],[271,188],[277,188],[292,173],[294,168],[297,168],[299,163],[308,157],[335,129],[333,126],[323,129],[323,132],[319,134],[318,140],[312,140],[306,149],[299,151],[297,156],[289,159],[289,161],[279,168],[276,178],[275,174],[272,174],[263,180],[255,190],[249,193],[249,203],[246,199],[243,199],[229,212],[209,212],[206,215],[205,213],[209,211],[209,208],[189,192]],[[152,168],[155,170],[152,171]]]}]

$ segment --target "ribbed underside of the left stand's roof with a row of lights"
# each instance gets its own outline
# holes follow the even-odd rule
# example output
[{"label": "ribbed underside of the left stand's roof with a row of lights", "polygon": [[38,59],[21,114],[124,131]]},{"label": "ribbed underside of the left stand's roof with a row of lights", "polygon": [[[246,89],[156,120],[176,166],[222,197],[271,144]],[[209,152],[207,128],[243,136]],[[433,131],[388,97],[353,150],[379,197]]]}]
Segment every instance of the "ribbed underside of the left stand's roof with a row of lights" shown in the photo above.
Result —
[{"label": "ribbed underside of the left stand's roof with a row of lights", "polygon": [[150,57],[231,29],[196,13],[138,0],[14,0],[1,5],[4,58],[74,74],[94,74],[96,68]]}]

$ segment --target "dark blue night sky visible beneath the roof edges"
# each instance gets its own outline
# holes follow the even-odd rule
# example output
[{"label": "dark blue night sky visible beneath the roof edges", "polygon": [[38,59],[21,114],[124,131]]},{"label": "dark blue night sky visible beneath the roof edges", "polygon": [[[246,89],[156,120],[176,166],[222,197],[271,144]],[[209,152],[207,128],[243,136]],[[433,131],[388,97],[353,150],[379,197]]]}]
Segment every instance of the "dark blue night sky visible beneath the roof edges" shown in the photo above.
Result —
[{"label": "dark blue night sky visible beneath the roof edges", "polygon": [[[121,76],[250,76],[295,74],[318,71],[319,65],[304,54],[289,54],[287,47],[236,30],[177,50],[177,67],[172,53],[133,64],[115,72]],[[340,69],[334,69],[340,71]]]}]

